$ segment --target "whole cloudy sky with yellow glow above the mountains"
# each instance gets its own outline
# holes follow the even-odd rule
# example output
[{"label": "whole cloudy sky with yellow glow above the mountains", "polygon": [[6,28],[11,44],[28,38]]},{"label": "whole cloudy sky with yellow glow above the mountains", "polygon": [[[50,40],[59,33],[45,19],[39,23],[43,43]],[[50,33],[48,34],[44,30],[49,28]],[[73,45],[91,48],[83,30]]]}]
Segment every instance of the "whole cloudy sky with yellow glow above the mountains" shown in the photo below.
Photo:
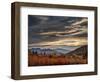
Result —
[{"label": "whole cloudy sky with yellow glow above the mountains", "polygon": [[86,45],[87,26],[86,17],[28,15],[28,45]]}]

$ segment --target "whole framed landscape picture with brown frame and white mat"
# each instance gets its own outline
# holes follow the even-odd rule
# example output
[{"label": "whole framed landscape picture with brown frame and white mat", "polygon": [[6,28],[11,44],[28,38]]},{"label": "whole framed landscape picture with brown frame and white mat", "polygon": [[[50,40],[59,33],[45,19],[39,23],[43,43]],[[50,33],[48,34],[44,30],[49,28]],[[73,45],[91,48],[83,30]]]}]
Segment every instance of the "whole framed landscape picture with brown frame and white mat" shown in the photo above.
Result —
[{"label": "whole framed landscape picture with brown frame and white mat", "polygon": [[97,7],[11,4],[11,78],[97,75]]}]

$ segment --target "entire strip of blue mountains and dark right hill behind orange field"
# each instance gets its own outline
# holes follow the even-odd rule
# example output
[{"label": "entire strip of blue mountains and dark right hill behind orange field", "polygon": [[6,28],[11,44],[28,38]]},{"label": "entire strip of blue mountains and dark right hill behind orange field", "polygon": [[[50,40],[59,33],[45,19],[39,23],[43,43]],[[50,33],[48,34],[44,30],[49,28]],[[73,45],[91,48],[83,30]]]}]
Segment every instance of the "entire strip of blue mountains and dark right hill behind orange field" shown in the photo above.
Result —
[{"label": "entire strip of blue mountains and dark right hill behind orange field", "polygon": [[56,49],[50,49],[50,48],[32,48],[29,51],[33,54],[37,55],[81,55],[87,57],[88,53],[88,46],[84,45],[81,46],[73,51],[62,49],[62,48],[56,48]]}]

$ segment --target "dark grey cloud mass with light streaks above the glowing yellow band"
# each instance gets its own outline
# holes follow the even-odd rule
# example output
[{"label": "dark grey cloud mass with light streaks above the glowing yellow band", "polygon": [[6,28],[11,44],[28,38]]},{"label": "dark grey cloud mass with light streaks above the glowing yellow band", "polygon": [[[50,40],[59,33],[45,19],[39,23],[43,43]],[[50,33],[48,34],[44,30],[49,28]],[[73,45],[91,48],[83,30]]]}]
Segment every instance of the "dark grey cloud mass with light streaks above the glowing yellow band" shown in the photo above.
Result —
[{"label": "dark grey cloud mass with light streaks above the glowing yellow band", "polygon": [[87,25],[85,26],[80,25],[84,22],[84,21],[81,22],[83,19],[86,18],[29,15],[28,42],[29,43],[49,42],[66,37],[73,37],[73,36],[82,37],[84,35],[87,36],[86,34]]}]

